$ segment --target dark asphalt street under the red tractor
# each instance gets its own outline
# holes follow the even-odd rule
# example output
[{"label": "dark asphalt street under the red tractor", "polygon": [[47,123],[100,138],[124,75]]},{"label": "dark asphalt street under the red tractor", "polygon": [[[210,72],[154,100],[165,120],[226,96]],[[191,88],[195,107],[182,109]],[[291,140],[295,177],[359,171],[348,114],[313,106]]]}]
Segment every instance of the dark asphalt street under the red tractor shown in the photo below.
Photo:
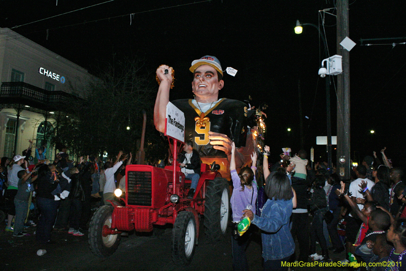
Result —
[{"label": "dark asphalt street under the red tractor", "polygon": [[[84,236],[73,236],[67,230],[54,231],[52,240],[55,244],[39,245],[35,241],[36,227],[26,228],[28,234],[24,237],[13,237],[12,233],[4,231],[4,222],[0,225],[0,270],[232,270],[230,235],[219,243],[211,244],[201,230],[191,264],[179,266],[171,256],[171,227],[160,230],[159,235],[130,233],[128,237],[121,238],[113,255],[99,258],[89,249],[87,231]],[[38,256],[39,249],[45,249],[46,254]],[[250,270],[262,269],[261,252],[260,234],[254,233],[247,249]],[[344,258],[344,253],[330,256],[337,261]],[[295,267],[291,270],[320,268]],[[323,267],[323,270],[337,269],[350,270],[346,267]]]}]

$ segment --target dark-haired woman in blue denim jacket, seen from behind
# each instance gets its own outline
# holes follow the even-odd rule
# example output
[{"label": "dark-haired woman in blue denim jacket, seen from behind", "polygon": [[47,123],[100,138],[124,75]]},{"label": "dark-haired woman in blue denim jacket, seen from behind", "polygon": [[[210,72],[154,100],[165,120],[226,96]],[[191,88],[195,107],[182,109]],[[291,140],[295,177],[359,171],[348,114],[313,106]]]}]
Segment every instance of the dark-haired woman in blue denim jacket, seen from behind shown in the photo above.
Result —
[{"label": "dark-haired woman in blue denim jacket, seen from behind", "polygon": [[262,231],[262,257],[264,270],[287,270],[283,262],[295,252],[295,243],[290,234],[289,220],[293,209],[293,192],[288,176],[283,172],[272,172],[266,178],[265,193],[268,200],[262,208],[261,217],[251,210],[244,210],[253,224]]}]

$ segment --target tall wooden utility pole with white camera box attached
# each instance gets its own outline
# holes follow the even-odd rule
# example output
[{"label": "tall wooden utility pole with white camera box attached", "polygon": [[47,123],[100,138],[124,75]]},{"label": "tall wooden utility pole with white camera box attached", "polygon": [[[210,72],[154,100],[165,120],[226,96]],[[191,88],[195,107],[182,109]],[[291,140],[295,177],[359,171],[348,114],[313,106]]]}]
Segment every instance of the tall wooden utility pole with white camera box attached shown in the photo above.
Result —
[{"label": "tall wooden utility pole with white camera box attached", "polygon": [[337,75],[337,173],[350,174],[350,54],[340,43],[349,36],[348,0],[337,0],[337,54],[342,55],[343,73]]}]

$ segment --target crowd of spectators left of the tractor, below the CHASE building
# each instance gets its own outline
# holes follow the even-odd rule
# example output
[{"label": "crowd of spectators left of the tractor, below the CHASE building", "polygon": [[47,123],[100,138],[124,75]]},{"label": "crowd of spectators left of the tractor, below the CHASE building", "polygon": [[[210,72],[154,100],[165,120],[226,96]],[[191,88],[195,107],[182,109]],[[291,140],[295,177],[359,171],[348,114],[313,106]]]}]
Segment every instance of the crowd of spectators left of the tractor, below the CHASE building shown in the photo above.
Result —
[{"label": "crowd of spectators left of the tractor, below the CHASE building", "polygon": [[[40,244],[52,244],[54,230],[83,236],[92,206],[116,200],[114,190],[125,183],[122,163],[127,159],[127,165],[131,163],[131,153],[128,157],[120,152],[115,162],[110,159],[103,163],[88,155],[75,163],[63,146],[51,163],[46,159],[45,146],[36,148],[35,158],[31,157],[31,148],[30,140],[22,155],[1,160],[0,202],[8,214],[5,231],[23,237],[24,227],[37,226]],[[122,179],[124,182],[120,182]],[[38,225],[29,223],[31,205],[38,210]]]}]

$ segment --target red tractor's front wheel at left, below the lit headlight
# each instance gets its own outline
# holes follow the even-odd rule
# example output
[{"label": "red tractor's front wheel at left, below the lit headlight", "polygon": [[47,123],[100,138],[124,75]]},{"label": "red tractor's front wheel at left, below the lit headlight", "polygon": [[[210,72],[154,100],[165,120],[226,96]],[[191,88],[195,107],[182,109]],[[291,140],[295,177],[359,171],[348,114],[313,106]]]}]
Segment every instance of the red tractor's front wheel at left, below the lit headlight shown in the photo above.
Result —
[{"label": "red tractor's front wheel at left, below the lit headlight", "polygon": [[[120,234],[103,236],[104,227],[111,227],[114,207],[101,206],[94,213],[89,225],[89,246],[94,255],[108,257],[112,255],[120,244]],[[116,230],[117,231],[117,230]]]}]

